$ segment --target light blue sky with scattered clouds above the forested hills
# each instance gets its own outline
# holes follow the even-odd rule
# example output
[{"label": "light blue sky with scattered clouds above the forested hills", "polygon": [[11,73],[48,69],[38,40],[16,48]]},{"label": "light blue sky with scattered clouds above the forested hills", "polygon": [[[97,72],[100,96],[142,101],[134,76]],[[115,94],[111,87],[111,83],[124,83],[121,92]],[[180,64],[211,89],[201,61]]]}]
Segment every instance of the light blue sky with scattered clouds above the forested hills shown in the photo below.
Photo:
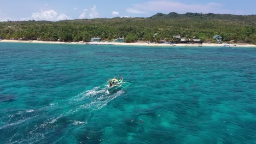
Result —
[{"label": "light blue sky with scattered clouds above the forested hills", "polygon": [[129,1],[50,1],[0,0],[0,21],[94,19],[96,17],[149,17],[156,13],[176,12],[256,14],[256,0],[129,0]]}]

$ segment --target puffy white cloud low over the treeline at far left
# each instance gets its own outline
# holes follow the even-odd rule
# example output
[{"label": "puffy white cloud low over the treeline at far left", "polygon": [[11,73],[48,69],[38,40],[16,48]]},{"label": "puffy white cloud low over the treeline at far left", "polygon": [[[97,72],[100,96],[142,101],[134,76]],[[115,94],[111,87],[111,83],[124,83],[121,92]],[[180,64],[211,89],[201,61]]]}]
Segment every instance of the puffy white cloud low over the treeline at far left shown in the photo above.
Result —
[{"label": "puffy white cloud low over the treeline at far left", "polygon": [[33,13],[31,16],[31,20],[46,20],[46,21],[60,21],[60,20],[67,20],[70,19],[67,15],[65,14],[58,14],[54,10],[45,10],[41,11],[39,13]]}]

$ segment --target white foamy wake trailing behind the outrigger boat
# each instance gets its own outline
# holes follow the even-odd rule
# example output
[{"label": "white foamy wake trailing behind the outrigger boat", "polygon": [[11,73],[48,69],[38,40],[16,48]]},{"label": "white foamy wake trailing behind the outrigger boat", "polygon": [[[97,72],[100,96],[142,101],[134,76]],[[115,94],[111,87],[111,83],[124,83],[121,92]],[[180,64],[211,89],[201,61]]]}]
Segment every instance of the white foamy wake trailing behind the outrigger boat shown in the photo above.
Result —
[{"label": "white foamy wake trailing behind the outrigger boat", "polygon": [[[110,101],[119,97],[119,95],[121,95],[122,93],[123,93],[123,90],[109,92],[109,89],[95,87],[88,91],[79,93],[75,97],[62,99],[58,103],[50,103],[48,106],[38,110],[28,109],[25,111],[19,111],[19,113],[16,113],[14,115],[26,116],[29,114],[29,115],[32,115],[32,117],[31,116],[28,118],[24,117],[19,121],[2,125],[2,127],[0,127],[0,130],[4,128],[14,127],[15,125],[20,125],[20,124],[26,125],[28,121],[34,121],[34,117],[39,116],[40,113],[42,113],[44,110],[47,110],[45,112],[47,112],[48,115],[50,115],[50,117],[47,119],[44,119],[45,117],[39,118],[37,120],[38,122],[35,123],[33,127],[28,127],[27,130],[29,131],[29,133],[27,137],[20,137],[18,141],[14,140],[14,139],[17,139],[17,137],[19,137],[18,136],[19,134],[26,133],[25,131],[21,131],[20,133],[17,133],[17,135],[14,135],[13,139],[10,139],[9,141],[5,141],[6,143],[38,142],[44,139],[44,136],[49,133],[48,132],[49,130],[53,130],[59,127],[58,126],[59,122],[61,122],[60,119],[65,119],[66,117],[69,117],[71,115],[74,115],[74,116],[80,115],[79,113],[84,110],[87,111],[87,114],[84,115],[85,119],[81,121],[81,119],[73,118],[71,121],[66,121],[66,122],[72,122],[73,125],[87,124],[89,115],[91,115],[92,111],[102,109]],[[14,115],[10,115],[9,119],[13,119]]]}]

